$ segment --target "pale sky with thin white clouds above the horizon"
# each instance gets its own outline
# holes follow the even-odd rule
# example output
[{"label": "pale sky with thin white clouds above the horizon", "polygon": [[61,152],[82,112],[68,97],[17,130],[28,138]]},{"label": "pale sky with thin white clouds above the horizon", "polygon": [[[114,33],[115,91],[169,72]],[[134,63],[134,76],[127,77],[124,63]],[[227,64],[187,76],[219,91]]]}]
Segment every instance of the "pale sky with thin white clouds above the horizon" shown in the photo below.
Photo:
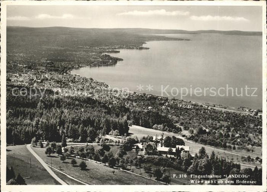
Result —
[{"label": "pale sky with thin white clouds above the horizon", "polygon": [[7,26],[262,31],[256,6],[8,6]]}]

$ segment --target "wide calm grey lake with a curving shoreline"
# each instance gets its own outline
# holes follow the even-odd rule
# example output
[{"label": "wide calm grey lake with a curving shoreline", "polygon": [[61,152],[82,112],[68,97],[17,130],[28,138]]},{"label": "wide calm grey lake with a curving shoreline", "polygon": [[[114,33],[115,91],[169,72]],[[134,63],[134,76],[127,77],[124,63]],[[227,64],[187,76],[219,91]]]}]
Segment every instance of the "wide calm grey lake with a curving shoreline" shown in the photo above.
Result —
[{"label": "wide calm grey lake with a curving shoreline", "polygon": [[122,49],[110,54],[123,59],[117,65],[86,67],[72,73],[111,88],[235,108],[262,108],[261,36],[164,36],[191,41],[147,42],[143,46],[148,50]]}]

